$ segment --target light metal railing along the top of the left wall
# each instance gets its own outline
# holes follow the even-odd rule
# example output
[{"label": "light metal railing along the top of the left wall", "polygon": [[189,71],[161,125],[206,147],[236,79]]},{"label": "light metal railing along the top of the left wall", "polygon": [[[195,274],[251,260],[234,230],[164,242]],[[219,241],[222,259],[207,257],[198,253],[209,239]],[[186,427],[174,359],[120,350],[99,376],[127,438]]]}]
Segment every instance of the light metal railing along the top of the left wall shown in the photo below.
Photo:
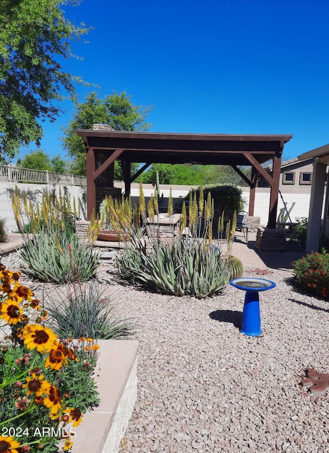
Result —
[{"label": "light metal railing along the top of the left wall", "polygon": [[39,183],[39,184],[65,184],[67,186],[86,186],[85,176],[74,174],[54,173],[52,171],[31,170],[12,165],[0,165],[0,183]]}]

